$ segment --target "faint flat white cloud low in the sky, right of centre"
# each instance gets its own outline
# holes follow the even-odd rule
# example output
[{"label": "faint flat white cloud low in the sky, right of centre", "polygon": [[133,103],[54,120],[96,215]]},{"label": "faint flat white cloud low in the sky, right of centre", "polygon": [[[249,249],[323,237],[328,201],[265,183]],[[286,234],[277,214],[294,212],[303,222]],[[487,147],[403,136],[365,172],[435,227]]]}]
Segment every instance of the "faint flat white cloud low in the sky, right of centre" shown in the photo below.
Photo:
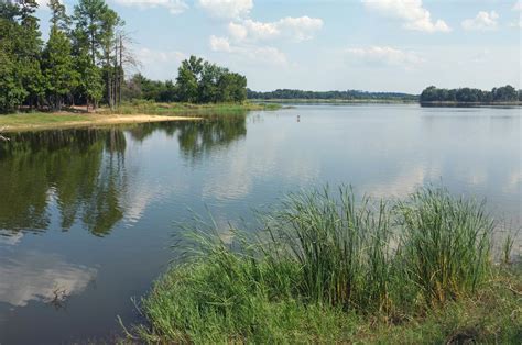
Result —
[{"label": "faint flat white cloud low in the sky, right of centre", "polygon": [[424,62],[424,59],[414,52],[404,52],[389,46],[347,48],[345,52],[354,60],[373,66],[399,66],[405,69],[412,69]]}]

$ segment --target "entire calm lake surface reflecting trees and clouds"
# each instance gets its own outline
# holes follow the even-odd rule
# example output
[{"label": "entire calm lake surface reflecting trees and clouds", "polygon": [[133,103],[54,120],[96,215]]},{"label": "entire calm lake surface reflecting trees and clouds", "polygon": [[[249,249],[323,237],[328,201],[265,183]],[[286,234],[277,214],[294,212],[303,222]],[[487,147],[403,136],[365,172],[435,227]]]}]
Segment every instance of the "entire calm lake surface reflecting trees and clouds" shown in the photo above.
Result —
[{"label": "entire calm lake surface reflecting trees and clouds", "polygon": [[[0,343],[119,332],[192,209],[221,224],[285,191],[403,197],[441,180],[521,224],[520,109],[305,105],[230,121],[41,132],[0,145]],[[516,249],[520,249],[519,240]]]}]

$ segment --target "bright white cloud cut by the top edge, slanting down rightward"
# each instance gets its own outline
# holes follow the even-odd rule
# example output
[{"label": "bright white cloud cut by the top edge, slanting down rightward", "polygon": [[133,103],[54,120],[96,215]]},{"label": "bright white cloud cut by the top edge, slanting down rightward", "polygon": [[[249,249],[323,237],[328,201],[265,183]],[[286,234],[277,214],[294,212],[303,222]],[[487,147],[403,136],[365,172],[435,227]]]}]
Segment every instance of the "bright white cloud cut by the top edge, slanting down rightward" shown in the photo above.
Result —
[{"label": "bright white cloud cut by the top edge, slanting down rightward", "polygon": [[452,29],[443,20],[432,20],[422,0],[361,0],[370,10],[404,21],[404,29],[422,32],[449,32]]}]

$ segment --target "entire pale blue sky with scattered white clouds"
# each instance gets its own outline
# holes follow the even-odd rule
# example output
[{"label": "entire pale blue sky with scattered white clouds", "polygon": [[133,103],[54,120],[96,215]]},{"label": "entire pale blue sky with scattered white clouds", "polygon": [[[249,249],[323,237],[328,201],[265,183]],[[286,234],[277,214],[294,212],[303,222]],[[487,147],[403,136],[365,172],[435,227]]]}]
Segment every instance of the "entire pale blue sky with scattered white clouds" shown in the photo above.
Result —
[{"label": "entire pale blue sky with scattered white clouds", "polygon": [[522,88],[522,0],[106,1],[152,79],[175,79],[197,55],[259,91]]}]

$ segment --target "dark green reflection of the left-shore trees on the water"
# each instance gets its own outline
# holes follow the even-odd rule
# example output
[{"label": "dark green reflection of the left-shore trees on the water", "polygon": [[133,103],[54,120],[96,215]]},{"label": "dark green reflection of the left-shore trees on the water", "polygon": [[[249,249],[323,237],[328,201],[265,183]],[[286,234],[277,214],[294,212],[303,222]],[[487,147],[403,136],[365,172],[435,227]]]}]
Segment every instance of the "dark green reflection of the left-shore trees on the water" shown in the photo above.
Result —
[{"label": "dark green reflection of the left-shore trees on the water", "polygon": [[[139,211],[126,207],[133,190],[126,148],[129,140],[141,145],[155,132],[177,137],[183,157],[195,163],[244,137],[246,116],[12,135],[0,145],[3,237],[45,231],[55,213],[63,231],[79,223],[96,236],[109,234],[126,212],[135,219]],[[58,212],[51,211],[54,205]]]}]

